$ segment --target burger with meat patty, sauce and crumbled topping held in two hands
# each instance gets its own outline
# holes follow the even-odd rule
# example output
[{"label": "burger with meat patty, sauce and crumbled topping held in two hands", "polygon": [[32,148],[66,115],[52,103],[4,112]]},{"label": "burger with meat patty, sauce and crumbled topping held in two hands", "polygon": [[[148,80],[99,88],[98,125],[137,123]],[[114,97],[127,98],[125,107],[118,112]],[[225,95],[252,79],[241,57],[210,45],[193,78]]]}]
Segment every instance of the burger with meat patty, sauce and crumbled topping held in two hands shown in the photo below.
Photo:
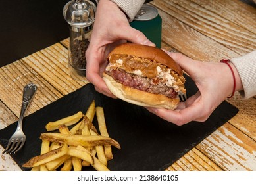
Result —
[{"label": "burger with meat patty, sauce and crumbled topping held in two hands", "polygon": [[128,103],[174,110],[186,93],[180,66],[157,47],[123,43],[109,53],[103,72],[107,87]]}]

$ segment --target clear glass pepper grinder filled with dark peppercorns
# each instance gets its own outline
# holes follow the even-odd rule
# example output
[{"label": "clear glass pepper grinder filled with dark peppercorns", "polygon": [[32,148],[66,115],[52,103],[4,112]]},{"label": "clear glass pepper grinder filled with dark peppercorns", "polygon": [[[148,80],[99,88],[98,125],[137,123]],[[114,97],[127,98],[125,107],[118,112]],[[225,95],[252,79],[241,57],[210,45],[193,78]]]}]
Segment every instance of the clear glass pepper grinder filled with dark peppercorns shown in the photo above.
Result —
[{"label": "clear glass pepper grinder filled with dark peppercorns", "polygon": [[68,67],[74,80],[86,80],[86,49],[90,42],[96,6],[88,0],[72,0],[63,8],[63,16],[70,25]]}]

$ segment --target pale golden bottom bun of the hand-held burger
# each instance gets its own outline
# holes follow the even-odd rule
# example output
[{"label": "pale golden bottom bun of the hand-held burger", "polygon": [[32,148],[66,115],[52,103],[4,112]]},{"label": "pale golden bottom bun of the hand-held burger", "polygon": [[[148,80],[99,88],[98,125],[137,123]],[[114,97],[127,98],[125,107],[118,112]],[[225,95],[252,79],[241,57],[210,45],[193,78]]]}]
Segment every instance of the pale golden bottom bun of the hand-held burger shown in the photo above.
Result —
[{"label": "pale golden bottom bun of the hand-held burger", "polygon": [[166,108],[174,110],[177,108],[180,99],[170,99],[165,95],[148,93],[133,89],[116,82],[111,76],[103,73],[103,80],[107,87],[118,99],[122,99],[128,103],[136,104],[139,106],[150,106],[154,108]]}]

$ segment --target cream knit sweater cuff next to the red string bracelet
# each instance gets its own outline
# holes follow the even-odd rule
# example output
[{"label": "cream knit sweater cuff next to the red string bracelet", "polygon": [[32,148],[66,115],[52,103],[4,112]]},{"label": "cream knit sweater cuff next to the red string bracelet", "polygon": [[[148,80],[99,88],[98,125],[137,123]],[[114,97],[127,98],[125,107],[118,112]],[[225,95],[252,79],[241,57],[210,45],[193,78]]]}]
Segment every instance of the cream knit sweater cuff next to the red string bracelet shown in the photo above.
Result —
[{"label": "cream knit sweater cuff next to the red string bracelet", "polygon": [[248,53],[242,57],[230,60],[240,75],[243,91],[240,94],[244,99],[249,99],[256,95],[256,51]]}]

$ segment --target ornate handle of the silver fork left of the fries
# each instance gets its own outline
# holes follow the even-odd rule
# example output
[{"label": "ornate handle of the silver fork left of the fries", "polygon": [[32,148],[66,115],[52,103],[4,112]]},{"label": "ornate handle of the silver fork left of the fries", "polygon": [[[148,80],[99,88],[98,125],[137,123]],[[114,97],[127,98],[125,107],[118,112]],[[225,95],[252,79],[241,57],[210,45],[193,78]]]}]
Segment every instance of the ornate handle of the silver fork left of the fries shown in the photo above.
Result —
[{"label": "ornate handle of the silver fork left of the fries", "polygon": [[21,106],[21,110],[20,110],[20,118],[18,119],[17,129],[22,128],[22,120],[24,118],[26,109],[28,108],[28,105],[32,101],[37,89],[38,89],[38,87],[36,86],[36,84],[31,83],[31,82],[28,83],[28,85],[26,85],[24,87],[24,89],[23,89],[23,98],[22,98],[22,106]]}]

